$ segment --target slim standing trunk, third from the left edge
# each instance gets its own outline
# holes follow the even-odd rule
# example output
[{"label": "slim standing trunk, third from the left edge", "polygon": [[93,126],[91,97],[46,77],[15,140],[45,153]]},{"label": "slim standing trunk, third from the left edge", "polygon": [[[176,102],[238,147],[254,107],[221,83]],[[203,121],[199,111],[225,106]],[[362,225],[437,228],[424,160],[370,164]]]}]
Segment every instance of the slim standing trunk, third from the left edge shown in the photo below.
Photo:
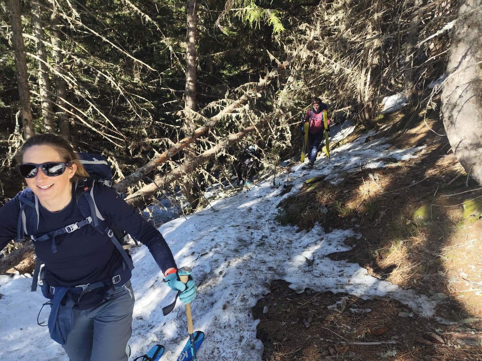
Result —
[{"label": "slim standing trunk, third from the left edge", "polygon": [[[62,39],[61,33],[58,29],[60,26],[60,19],[58,13],[54,8],[54,13],[52,14],[52,57],[54,59],[54,69],[55,74],[55,92],[57,94],[57,104],[65,106],[65,101],[67,99],[67,83],[63,77],[59,74],[64,74],[64,69],[62,68],[62,63],[64,62],[64,54],[62,53]],[[62,108],[59,108],[56,112],[58,116],[58,128],[59,133],[64,137],[68,138],[68,117]]]}]

